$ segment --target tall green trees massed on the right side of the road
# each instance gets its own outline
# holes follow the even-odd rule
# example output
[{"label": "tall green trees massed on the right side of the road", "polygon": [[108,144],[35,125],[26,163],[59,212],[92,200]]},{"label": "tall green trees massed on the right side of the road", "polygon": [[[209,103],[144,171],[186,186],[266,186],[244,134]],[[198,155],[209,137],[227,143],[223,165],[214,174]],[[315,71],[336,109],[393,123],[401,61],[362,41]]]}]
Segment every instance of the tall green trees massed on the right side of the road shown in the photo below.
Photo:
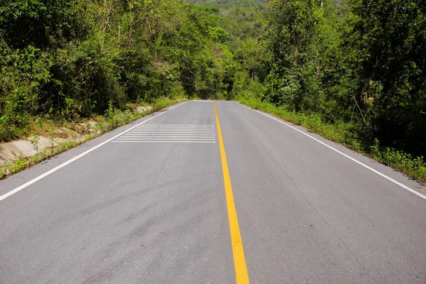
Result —
[{"label": "tall green trees massed on the right side of the road", "polygon": [[425,1],[274,1],[263,99],[425,153]]}]

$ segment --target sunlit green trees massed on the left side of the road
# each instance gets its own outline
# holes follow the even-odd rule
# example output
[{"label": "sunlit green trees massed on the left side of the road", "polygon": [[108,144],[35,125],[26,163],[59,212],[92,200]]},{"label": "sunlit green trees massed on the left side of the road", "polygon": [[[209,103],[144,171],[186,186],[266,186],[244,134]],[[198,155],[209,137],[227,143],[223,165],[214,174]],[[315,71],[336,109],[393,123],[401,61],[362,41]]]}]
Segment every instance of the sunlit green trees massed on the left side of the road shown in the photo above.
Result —
[{"label": "sunlit green trees massed on the left side of the road", "polygon": [[0,141],[31,119],[75,120],[158,97],[233,97],[217,9],[179,0],[0,5]]}]

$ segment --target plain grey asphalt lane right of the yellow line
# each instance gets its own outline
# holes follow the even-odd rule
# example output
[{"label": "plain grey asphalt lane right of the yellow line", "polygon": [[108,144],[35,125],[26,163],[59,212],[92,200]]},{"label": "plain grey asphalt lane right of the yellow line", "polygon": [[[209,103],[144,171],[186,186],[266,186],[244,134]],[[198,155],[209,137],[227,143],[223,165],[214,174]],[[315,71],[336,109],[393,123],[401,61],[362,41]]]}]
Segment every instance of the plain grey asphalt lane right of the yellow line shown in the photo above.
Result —
[{"label": "plain grey asphalt lane right of the yellow line", "polygon": [[217,107],[251,283],[426,283],[425,200],[251,109]]}]

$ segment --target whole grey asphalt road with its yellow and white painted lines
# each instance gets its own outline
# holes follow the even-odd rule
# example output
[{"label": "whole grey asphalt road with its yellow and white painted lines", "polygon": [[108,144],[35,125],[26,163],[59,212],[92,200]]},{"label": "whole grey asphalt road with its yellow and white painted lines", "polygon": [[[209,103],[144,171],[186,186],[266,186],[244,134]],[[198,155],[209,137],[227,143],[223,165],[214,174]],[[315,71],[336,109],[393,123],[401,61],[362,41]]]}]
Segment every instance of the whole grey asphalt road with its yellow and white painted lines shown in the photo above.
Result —
[{"label": "whole grey asphalt road with its yellow and white painted lines", "polygon": [[187,102],[1,181],[0,283],[426,283],[417,182],[216,105],[221,131]]}]

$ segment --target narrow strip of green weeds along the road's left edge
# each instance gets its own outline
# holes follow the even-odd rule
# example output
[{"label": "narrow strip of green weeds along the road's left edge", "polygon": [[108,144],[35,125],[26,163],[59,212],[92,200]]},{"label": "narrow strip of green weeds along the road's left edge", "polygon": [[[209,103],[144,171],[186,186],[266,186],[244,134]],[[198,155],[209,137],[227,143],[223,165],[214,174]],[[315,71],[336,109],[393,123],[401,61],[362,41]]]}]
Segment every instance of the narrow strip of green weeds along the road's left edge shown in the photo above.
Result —
[{"label": "narrow strip of green weeds along the road's left edge", "polygon": [[[13,163],[7,163],[6,165],[0,168],[0,180],[3,180],[9,175],[18,173],[21,170],[31,168],[33,165],[36,165],[42,162],[43,160],[68,151],[71,148],[75,148],[84,142],[92,140],[93,138],[101,136],[102,134],[114,130],[120,126],[129,124],[131,121],[140,119],[141,117],[146,116],[148,114],[152,114],[153,112],[159,111],[160,109],[165,109],[166,107],[169,107],[170,105],[176,104],[178,102],[179,101],[176,99],[158,99],[151,105],[151,107],[153,107],[152,109],[143,112],[130,110],[119,111],[118,109],[110,108],[105,116],[97,116],[96,118],[94,118],[98,122],[96,126],[97,133],[87,134],[79,140],[71,139],[69,141],[60,143],[60,145],[58,146],[44,148],[43,150],[37,151],[37,154],[32,155],[28,158],[17,158],[15,161],[13,161]],[[38,147],[36,144],[36,137],[37,136],[33,136],[30,138],[31,143],[33,143],[34,141],[33,144],[35,149],[36,147]]]}]

